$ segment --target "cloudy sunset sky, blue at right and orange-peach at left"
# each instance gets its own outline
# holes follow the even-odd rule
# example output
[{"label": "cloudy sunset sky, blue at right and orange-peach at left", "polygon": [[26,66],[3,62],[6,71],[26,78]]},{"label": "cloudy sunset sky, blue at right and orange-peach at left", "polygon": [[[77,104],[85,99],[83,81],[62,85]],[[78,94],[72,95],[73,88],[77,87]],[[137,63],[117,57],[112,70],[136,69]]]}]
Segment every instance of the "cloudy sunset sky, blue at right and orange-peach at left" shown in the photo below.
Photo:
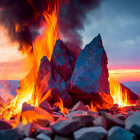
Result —
[{"label": "cloudy sunset sky, blue at right and orange-peach at left", "polygon": [[[110,73],[120,82],[140,81],[140,0],[103,0],[83,22],[82,47],[100,33]],[[22,79],[27,73],[24,56],[2,30],[0,38],[0,79]]]}]

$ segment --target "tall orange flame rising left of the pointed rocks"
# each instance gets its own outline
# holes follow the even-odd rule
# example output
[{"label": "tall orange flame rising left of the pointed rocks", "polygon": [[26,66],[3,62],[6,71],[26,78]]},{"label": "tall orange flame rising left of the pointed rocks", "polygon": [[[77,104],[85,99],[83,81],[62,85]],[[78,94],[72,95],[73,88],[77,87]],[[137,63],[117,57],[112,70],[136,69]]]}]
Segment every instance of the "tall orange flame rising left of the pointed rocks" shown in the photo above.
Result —
[{"label": "tall orange flame rising left of the pointed rocks", "polygon": [[[54,0],[54,3],[54,7],[50,3],[50,6],[43,14],[45,21],[39,29],[40,35],[36,38],[35,42],[33,42],[33,46],[27,47],[23,45],[23,52],[28,54],[29,67],[32,66],[32,68],[29,74],[20,82],[20,89],[17,90],[18,94],[16,98],[7,107],[7,110],[10,111],[7,112],[6,110],[6,114],[4,112],[4,118],[7,120],[13,115],[20,114],[24,102],[35,107],[39,106],[41,96],[39,91],[35,89],[35,81],[38,75],[40,60],[43,56],[47,56],[49,60],[51,59],[53,47],[58,39],[57,21],[61,0]],[[16,25],[16,31],[18,28],[19,26]],[[32,53],[30,53],[32,47],[33,50]],[[27,48],[30,49],[27,50]]]}]

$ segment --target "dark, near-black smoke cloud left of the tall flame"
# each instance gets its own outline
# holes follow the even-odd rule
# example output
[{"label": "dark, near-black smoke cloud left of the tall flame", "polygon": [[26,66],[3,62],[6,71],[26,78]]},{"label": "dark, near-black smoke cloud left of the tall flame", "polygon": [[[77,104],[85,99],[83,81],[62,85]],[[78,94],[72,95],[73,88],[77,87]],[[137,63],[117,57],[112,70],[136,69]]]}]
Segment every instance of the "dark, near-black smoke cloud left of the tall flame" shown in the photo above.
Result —
[{"label": "dark, near-black smoke cloud left of the tall flame", "polygon": [[[30,44],[39,34],[38,28],[44,20],[43,12],[51,13],[55,0],[0,0],[0,24],[12,41]],[[18,30],[16,29],[18,28]]]}]

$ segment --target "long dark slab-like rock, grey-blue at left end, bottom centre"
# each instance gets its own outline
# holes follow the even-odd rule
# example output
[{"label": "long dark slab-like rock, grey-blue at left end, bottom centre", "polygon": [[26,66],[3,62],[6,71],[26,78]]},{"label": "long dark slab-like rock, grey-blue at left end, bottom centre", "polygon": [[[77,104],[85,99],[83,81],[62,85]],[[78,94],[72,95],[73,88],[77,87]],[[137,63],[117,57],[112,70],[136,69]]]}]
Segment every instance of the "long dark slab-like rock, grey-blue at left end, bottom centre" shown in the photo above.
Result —
[{"label": "long dark slab-like rock, grey-blue at left end, bottom centre", "polygon": [[55,134],[61,136],[69,136],[79,128],[92,125],[93,125],[93,117],[79,116],[73,119],[57,122],[51,125],[51,128]]}]

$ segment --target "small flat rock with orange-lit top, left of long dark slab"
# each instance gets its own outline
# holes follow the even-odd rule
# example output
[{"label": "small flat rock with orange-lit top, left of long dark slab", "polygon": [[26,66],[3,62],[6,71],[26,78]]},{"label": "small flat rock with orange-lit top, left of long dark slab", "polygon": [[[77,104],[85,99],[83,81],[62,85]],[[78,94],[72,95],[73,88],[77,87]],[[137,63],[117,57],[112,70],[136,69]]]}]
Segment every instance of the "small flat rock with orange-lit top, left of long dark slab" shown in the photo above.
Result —
[{"label": "small flat rock with orange-lit top, left of long dark slab", "polygon": [[39,125],[36,125],[35,130],[37,133],[44,133],[48,136],[52,136],[53,132],[50,127],[41,127]]}]

